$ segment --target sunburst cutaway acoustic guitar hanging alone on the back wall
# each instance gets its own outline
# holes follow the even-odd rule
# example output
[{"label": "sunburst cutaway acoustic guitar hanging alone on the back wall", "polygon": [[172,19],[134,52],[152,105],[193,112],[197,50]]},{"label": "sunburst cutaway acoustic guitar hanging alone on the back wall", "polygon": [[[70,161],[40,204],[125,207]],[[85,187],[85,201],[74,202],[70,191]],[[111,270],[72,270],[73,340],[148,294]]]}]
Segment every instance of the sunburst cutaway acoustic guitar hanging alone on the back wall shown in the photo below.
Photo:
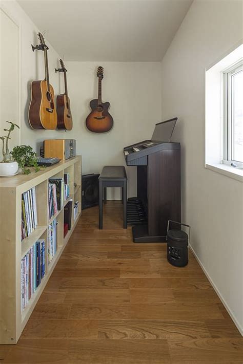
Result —
[{"label": "sunburst cutaway acoustic guitar hanging alone on the back wall", "polygon": [[90,101],[91,113],[86,119],[87,128],[94,133],[109,132],[113,126],[113,118],[109,114],[109,102],[102,102],[102,79],[104,77],[103,67],[98,67],[98,99]]}]

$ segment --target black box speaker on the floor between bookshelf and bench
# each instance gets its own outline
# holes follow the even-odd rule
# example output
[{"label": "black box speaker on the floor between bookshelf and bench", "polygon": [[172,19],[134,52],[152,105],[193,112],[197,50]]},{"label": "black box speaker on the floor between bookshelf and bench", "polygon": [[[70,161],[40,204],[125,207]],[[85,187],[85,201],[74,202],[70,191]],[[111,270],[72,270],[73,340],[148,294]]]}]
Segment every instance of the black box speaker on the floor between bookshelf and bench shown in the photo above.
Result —
[{"label": "black box speaker on the floor between bookshelf and bench", "polygon": [[82,210],[99,204],[99,174],[82,176]]}]

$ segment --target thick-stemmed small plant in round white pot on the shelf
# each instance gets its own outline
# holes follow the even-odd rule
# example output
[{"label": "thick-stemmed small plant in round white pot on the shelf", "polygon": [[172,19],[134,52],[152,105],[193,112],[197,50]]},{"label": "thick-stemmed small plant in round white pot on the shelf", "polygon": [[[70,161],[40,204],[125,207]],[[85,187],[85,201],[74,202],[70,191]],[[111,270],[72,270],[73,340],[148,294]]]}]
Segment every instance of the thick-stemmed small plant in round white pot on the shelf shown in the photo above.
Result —
[{"label": "thick-stemmed small plant in round white pot on the shelf", "polygon": [[12,121],[6,121],[10,124],[9,129],[4,129],[5,132],[8,132],[7,136],[2,136],[0,139],[3,142],[3,160],[0,162],[0,176],[13,176],[18,171],[18,163],[13,160],[12,155],[9,151],[8,141],[10,138],[10,134],[14,131],[15,126],[19,129],[17,124],[14,124]]}]

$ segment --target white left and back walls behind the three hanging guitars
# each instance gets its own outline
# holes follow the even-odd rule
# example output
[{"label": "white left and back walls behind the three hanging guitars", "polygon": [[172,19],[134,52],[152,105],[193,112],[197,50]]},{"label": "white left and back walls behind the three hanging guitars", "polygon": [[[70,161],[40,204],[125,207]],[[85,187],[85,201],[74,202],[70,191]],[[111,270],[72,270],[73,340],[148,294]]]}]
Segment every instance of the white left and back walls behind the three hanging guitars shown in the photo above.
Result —
[{"label": "white left and back walls behind the three hanging guitars", "polygon": [[[83,156],[83,174],[99,173],[104,165],[125,164],[123,147],[151,137],[154,125],[161,120],[160,62],[65,62],[73,116],[73,129],[65,131],[32,130],[28,122],[30,83],[44,79],[44,55],[32,52],[38,44],[39,31],[15,1],[2,1],[5,10],[21,27],[21,144],[31,145],[37,153],[44,139],[73,138],[77,153]],[[50,82],[55,94],[63,93],[63,74],[55,74],[60,56],[48,41]],[[114,118],[111,132],[103,135],[89,132],[85,120],[89,102],[97,98],[97,66],[105,68],[103,101],[111,103]],[[135,167],[128,167],[128,193],[136,194]],[[119,199],[119,189],[108,191],[108,199]]]}]

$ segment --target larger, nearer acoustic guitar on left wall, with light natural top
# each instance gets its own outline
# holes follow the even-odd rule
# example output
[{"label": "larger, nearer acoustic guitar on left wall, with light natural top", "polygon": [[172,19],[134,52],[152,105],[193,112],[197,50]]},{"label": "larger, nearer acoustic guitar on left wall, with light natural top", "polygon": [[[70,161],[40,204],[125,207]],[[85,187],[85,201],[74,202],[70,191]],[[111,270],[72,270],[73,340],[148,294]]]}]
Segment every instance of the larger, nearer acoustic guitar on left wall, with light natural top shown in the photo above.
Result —
[{"label": "larger, nearer acoustic guitar on left wall, with light natural top", "polygon": [[29,123],[33,129],[56,129],[57,114],[54,104],[54,90],[49,81],[48,57],[45,39],[41,33],[38,33],[40,45],[32,50],[44,51],[45,73],[46,77],[42,81],[33,81],[31,83],[31,101],[29,107]]}]

